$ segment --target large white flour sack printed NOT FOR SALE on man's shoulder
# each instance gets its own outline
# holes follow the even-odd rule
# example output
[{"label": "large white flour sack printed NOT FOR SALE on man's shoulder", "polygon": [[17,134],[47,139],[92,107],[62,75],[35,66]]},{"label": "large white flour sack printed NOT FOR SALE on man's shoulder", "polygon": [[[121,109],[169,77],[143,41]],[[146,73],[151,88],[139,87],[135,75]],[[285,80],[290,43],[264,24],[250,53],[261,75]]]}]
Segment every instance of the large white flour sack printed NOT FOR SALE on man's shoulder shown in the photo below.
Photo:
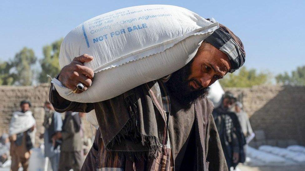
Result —
[{"label": "large white flour sack printed NOT FOR SALE on man's shoulder", "polygon": [[95,72],[93,84],[71,93],[56,79],[58,93],[76,102],[99,102],[182,68],[202,40],[219,28],[182,7],[144,5],[94,17],[64,38],[59,54],[63,68],[75,56],[88,54],[85,66]]}]

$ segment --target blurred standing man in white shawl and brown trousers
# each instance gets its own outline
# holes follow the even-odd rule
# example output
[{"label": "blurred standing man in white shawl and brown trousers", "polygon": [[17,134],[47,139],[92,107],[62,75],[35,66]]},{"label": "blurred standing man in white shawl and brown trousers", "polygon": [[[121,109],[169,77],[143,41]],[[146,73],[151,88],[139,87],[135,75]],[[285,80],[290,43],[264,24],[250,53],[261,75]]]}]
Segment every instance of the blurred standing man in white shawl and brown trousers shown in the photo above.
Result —
[{"label": "blurred standing man in white shawl and brown trousers", "polygon": [[21,111],[13,112],[9,126],[11,141],[10,155],[12,156],[11,170],[17,171],[20,164],[24,171],[28,170],[29,158],[34,142],[36,121],[30,111],[31,102],[22,101]]}]

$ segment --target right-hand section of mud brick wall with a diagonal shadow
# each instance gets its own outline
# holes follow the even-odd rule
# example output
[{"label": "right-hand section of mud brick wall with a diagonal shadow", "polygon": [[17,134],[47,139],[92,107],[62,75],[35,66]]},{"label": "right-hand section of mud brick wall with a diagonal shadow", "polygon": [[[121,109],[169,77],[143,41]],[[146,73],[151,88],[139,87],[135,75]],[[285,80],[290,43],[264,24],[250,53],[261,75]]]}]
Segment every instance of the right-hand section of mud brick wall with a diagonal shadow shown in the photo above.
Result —
[{"label": "right-hand section of mud brick wall with a diagonal shadow", "polygon": [[256,133],[251,146],[305,145],[305,87],[226,88],[243,103]]}]

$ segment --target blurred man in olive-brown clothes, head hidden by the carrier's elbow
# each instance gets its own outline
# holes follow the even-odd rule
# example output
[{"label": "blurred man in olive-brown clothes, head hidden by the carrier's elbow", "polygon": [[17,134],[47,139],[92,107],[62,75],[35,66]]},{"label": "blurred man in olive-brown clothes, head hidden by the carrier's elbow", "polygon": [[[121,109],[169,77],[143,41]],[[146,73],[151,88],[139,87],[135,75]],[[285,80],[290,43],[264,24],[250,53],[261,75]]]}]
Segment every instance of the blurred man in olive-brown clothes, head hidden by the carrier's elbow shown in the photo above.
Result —
[{"label": "blurred man in olive-brown clothes, head hidden by the carrier's elbow", "polygon": [[66,112],[63,129],[54,136],[62,140],[59,169],[78,171],[83,165],[83,143],[81,138],[81,118],[78,112]]}]

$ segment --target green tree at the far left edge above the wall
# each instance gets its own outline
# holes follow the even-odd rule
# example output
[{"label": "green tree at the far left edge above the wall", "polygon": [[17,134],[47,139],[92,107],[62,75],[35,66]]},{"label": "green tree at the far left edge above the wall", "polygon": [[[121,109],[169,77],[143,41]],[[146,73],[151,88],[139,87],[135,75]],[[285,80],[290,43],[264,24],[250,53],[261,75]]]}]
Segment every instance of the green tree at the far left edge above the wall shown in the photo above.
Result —
[{"label": "green tree at the far left edge above the wall", "polygon": [[12,85],[15,82],[16,75],[10,73],[12,68],[11,62],[0,62],[0,85]]}]

